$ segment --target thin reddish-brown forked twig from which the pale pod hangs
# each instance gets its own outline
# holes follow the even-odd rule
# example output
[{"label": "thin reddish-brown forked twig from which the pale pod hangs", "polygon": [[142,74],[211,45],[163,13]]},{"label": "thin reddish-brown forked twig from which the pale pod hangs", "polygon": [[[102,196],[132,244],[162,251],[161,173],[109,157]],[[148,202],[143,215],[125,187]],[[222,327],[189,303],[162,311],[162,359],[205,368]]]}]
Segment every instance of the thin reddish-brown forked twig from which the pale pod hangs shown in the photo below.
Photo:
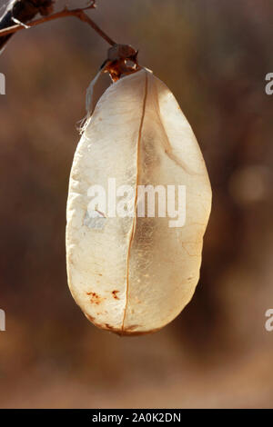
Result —
[{"label": "thin reddish-brown forked twig from which the pale pod hangs", "polygon": [[[40,19],[36,19],[35,21],[31,21],[31,22],[27,23],[27,27],[32,27],[32,26],[44,24],[46,22],[53,21],[53,20],[58,19],[58,18],[65,18],[66,16],[76,16],[76,18],[78,18],[81,21],[85,22],[86,24],[92,26],[92,28],[96,31],[96,33],[98,35],[100,35],[101,37],[103,37],[109,45],[112,45],[112,46],[116,45],[116,42],[114,42],[114,40],[112,40],[108,35],[106,35],[106,33],[101,28],[99,28],[99,26],[97,26],[95,24],[95,22],[92,21],[92,19],[88,15],[86,15],[86,13],[85,13],[86,10],[93,9],[95,7],[96,7],[95,3],[92,3],[92,5],[88,5],[84,8],[81,8],[81,9],[69,10],[69,9],[65,8],[61,12],[56,12],[56,14],[43,16]],[[3,30],[0,30],[0,37],[3,37],[4,35],[14,34],[20,30],[25,30],[25,25],[13,25],[13,26],[10,26],[8,28],[4,28]]]}]

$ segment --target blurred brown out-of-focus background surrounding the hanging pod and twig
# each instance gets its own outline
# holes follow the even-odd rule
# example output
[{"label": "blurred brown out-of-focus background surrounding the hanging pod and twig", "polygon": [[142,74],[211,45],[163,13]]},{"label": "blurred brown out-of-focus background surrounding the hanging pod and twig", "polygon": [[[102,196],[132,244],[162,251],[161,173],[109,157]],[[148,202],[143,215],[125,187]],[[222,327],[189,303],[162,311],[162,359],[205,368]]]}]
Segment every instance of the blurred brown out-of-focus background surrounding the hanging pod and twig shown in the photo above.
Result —
[{"label": "blurred brown out-of-focus background surrounding the hanging pod and twig", "polygon": [[76,18],[15,35],[0,57],[0,406],[272,407],[273,4],[97,4],[91,17],[139,49],[197,134],[214,194],[201,279],[159,333],[120,338],[86,321],[66,287],[66,194],[108,46]]}]

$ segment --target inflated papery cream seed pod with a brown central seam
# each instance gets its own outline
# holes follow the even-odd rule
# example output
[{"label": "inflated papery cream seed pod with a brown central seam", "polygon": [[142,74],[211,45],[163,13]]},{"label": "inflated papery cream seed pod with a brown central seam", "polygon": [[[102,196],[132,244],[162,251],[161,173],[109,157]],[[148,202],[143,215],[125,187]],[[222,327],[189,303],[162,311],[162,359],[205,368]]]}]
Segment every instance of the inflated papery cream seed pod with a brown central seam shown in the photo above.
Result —
[{"label": "inflated papery cream seed pod with a brown central seam", "polygon": [[203,156],[167,86],[147,69],[111,84],[76,148],[67,201],[68,283],[86,317],[126,335],[171,322],[195,292],[210,207]]}]

